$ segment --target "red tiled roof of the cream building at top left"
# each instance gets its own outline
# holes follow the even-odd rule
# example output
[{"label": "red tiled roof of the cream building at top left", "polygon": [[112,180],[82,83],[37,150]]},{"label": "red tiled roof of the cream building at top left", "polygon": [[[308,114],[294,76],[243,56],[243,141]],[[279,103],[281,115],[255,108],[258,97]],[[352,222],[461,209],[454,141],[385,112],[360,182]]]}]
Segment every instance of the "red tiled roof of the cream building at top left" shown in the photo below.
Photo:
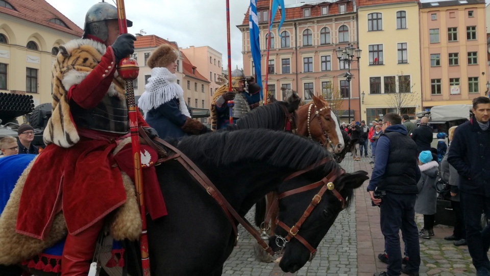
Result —
[{"label": "red tiled roof of the cream building at top left", "polygon": [[[79,37],[83,35],[83,30],[80,27],[44,0],[5,0],[5,2],[9,3],[15,10],[0,7],[0,14],[9,14]],[[63,21],[68,28],[50,22],[50,19],[53,18]]]}]

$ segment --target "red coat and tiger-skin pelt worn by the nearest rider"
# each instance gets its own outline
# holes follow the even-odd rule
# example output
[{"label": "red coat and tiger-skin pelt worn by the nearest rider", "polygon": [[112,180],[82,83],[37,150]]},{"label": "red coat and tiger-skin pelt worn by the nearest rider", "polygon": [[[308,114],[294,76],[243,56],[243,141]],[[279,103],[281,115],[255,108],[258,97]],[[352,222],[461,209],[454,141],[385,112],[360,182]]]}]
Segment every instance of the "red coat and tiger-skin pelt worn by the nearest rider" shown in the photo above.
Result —
[{"label": "red coat and tiger-skin pelt worn by the nearest rider", "polygon": [[[16,231],[44,239],[54,216],[63,211],[68,232],[76,235],[126,201],[111,154],[117,136],[78,129],[69,102],[93,108],[109,94],[126,101],[122,80],[114,77],[111,47],[77,39],[60,47],[53,65],[53,114],[20,199]],[[148,126],[138,113],[138,125]]]}]

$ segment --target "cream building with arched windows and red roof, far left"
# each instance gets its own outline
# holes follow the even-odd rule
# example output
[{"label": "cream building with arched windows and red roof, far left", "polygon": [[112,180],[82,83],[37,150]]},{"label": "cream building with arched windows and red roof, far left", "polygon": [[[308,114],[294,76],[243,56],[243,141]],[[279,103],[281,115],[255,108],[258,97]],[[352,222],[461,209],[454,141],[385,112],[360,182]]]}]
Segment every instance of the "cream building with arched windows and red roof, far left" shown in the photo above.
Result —
[{"label": "cream building with arched windows and red roof, far left", "polygon": [[0,92],[32,95],[38,105],[52,101],[51,67],[58,47],[83,31],[45,1],[36,2],[45,13],[19,0],[0,7]]}]

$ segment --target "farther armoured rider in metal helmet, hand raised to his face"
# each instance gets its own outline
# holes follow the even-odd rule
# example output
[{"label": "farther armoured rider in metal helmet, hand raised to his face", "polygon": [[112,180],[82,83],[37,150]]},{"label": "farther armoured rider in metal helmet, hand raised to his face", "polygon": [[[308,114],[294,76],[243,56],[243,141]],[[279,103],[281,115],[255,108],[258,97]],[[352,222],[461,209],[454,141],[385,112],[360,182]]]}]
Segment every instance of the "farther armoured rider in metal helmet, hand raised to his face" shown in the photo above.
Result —
[{"label": "farther armoured rider in metal helmet, hand raised to his face", "polygon": [[[247,86],[246,86],[247,82]],[[228,101],[234,101],[233,120],[238,120],[245,113],[260,105],[260,86],[253,77],[245,78],[238,68],[231,72],[232,91],[228,84],[222,85],[214,93],[211,103],[211,129],[225,128],[230,124],[230,107]]]}]

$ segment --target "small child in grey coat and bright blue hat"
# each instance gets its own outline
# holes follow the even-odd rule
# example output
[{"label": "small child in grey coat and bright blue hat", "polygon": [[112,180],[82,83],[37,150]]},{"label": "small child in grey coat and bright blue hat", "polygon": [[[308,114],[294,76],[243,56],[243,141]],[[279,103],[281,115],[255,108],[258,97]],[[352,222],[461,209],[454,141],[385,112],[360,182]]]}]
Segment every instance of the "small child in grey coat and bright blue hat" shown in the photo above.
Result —
[{"label": "small child in grey coat and bright blue hat", "polygon": [[415,213],[424,215],[424,228],[419,232],[419,238],[430,239],[434,235],[434,222],[437,203],[435,181],[439,173],[439,164],[432,160],[432,153],[428,150],[419,154],[419,168],[421,177],[417,183],[419,195],[415,201]]}]

